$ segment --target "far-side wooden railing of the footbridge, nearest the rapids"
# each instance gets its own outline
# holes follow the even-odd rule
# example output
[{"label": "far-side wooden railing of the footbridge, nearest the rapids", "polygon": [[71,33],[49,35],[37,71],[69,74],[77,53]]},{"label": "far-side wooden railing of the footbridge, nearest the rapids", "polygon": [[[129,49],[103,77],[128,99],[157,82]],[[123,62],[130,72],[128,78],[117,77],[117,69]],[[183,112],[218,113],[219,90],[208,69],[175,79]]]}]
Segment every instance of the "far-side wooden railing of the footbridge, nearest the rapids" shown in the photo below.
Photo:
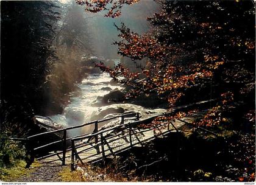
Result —
[{"label": "far-side wooden railing of the footbridge, nearest the rapids", "polygon": [[[62,154],[62,157],[59,156],[59,159],[62,161],[62,164],[65,165],[66,152],[72,150],[72,154],[74,153],[74,155],[72,155],[73,158],[74,158],[74,156],[76,156],[76,147],[74,146],[75,141],[79,141],[81,139],[86,139],[86,138],[88,138],[88,139],[94,138],[94,142],[96,143],[95,147],[97,147],[96,149],[98,150],[99,145],[102,145],[104,143],[103,133],[105,133],[107,131],[113,131],[117,128],[126,127],[126,128],[129,128],[129,134],[130,134],[130,132],[132,131],[131,128],[135,125],[143,124],[145,122],[150,122],[151,120],[154,120],[155,117],[158,117],[158,116],[165,116],[165,115],[168,115],[168,114],[173,114],[173,113],[176,113],[177,111],[186,110],[186,108],[189,108],[190,106],[194,106],[194,105],[199,106],[199,105],[202,105],[202,104],[205,104],[205,103],[208,103],[208,102],[213,102],[215,100],[216,99],[212,99],[212,100],[206,100],[206,101],[201,101],[201,102],[191,103],[191,104],[188,104],[188,105],[179,106],[179,107],[176,107],[174,110],[167,111],[165,113],[158,114],[158,115],[149,117],[148,119],[144,119],[144,120],[138,120],[139,119],[139,114],[138,113],[127,113],[127,114],[121,114],[121,115],[109,117],[109,118],[106,118],[106,119],[94,120],[94,121],[88,122],[86,124],[61,128],[59,130],[46,131],[44,133],[34,134],[34,135],[29,136],[27,138],[21,138],[21,139],[25,139],[26,142],[28,143],[27,145],[30,147],[30,153],[31,153],[32,156],[34,156],[35,152],[39,149],[46,148],[46,147],[49,147],[51,145],[58,144],[58,143],[62,142],[62,151],[61,152],[55,152],[55,153],[52,153],[52,154],[49,154],[49,155],[46,155],[46,156],[41,156],[38,159],[48,158],[48,157],[54,156],[54,155],[59,156],[59,154]],[[129,123],[124,124],[124,117],[131,116],[131,115],[136,115],[137,116],[137,121],[129,122]],[[107,128],[107,129],[102,130],[102,131],[98,131],[99,130],[99,128],[98,128],[99,123],[105,122],[107,120],[115,119],[115,118],[118,118],[118,117],[121,117],[121,124],[120,125],[117,125],[117,126],[112,127],[112,128]],[[68,130],[73,130],[73,129],[76,129],[76,128],[82,128],[82,127],[86,127],[88,125],[93,125],[93,124],[94,124],[94,130],[91,133],[81,134],[79,136],[74,136],[74,137],[71,137],[71,138],[67,138],[67,131]],[[174,125],[172,125],[172,126],[174,127]],[[47,136],[48,134],[53,134],[53,133],[63,133],[62,139],[59,140],[59,141],[54,141],[54,142],[50,142],[48,144],[44,144],[44,145],[40,145],[40,146],[35,147],[35,141],[37,140],[38,137]],[[101,139],[100,143],[99,143],[99,138]],[[131,134],[130,134],[129,138],[130,138],[130,141],[131,141]],[[67,141],[71,141],[71,146],[72,146],[71,148],[66,147]],[[104,150],[104,147],[102,149]],[[102,155],[104,155],[104,152],[102,152]]]}]

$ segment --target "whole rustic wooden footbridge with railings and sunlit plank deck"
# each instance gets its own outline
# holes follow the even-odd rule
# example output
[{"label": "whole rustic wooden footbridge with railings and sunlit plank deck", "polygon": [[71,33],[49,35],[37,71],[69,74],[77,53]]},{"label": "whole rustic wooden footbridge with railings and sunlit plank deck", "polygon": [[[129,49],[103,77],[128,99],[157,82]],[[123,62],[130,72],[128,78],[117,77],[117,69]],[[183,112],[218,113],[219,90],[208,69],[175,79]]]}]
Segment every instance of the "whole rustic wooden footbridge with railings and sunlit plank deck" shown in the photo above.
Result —
[{"label": "whole rustic wooden footbridge with railings and sunlit plank deck", "polygon": [[[130,148],[143,147],[147,142],[155,138],[163,138],[170,133],[179,132],[179,128],[182,125],[193,122],[192,117],[162,122],[162,124],[154,124],[151,127],[147,127],[147,125],[151,124],[152,120],[156,117],[171,116],[187,106],[190,105],[181,106],[175,110],[141,120],[139,113],[120,114],[107,119],[94,120],[82,125],[35,134],[23,140],[27,142],[27,146],[30,148],[30,156],[32,156],[31,163],[34,161],[34,158],[37,158],[41,162],[55,162],[62,165],[74,165],[79,161],[82,164],[85,162],[104,161],[107,157],[116,158],[119,153]],[[109,128],[98,127],[99,124],[109,122],[110,120],[115,120],[114,126]],[[92,125],[94,125],[94,130],[90,133],[68,138],[67,132],[69,130],[82,129],[88,126],[91,127]],[[62,136],[62,139],[50,143],[44,142],[43,145],[38,145],[40,139],[47,139],[52,134],[58,135],[58,138]],[[52,152],[42,155],[46,150]]]}]

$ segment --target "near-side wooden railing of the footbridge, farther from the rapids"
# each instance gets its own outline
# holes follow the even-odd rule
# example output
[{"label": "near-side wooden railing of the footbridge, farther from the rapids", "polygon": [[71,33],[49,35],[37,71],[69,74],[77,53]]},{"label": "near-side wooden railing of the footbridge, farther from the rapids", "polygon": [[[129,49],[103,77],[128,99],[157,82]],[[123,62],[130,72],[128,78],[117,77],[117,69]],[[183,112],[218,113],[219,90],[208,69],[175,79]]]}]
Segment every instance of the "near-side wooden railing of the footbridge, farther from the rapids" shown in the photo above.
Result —
[{"label": "near-side wooden railing of the footbridge, farther from the rapids", "polygon": [[[121,138],[128,138],[128,141],[129,141],[129,145],[126,145],[123,148],[123,150],[132,148],[134,145],[137,145],[137,144],[140,144],[143,146],[143,142],[148,141],[148,139],[144,139],[142,142],[142,141],[140,141],[140,138],[138,138],[138,134],[143,134],[144,132],[149,131],[149,130],[154,130],[155,128],[146,128],[146,129],[140,130],[140,129],[138,129],[137,126],[140,124],[145,124],[145,123],[151,122],[152,120],[155,119],[155,117],[163,116],[163,115],[171,114],[171,113],[174,113],[174,111],[169,111],[169,112],[166,112],[163,114],[157,114],[155,116],[152,116],[152,117],[149,117],[149,118],[143,119],[143,120],[137,120],[134,122],[127,122],[125,124],[116,125],[115,127],[111,127],[111,128],[107,128],[105,130],[98,131],[98,133],[91,133],[91,134],[88,134],[87,136],[78,136],[78,137],[72,138],[71,139],[71,147],[72,147],[71,148],[71,161],[72,161],[71,164],[74,165],[75,159],[79,159],[79,161],[83,164],[84,159],[90,158],[92,156],[80,158],[79,153],[86,152],[88,150],[91,150],[92,148],[98,148],[98,151],[99,151],[99,147],[101,147],[101,152],[97,151],[97,153],[94,154],[94,156],[101,153],[101,155],[102,155],[101,158],[103,160],[106,157],[105,153],[108,151],[110,152],[110,153],[108,152],[108,155],[113,155],[115,157],[117,153],[113,152],[113,150],[119,146],[113,147],[113,146],[110,146],[110,144],[112,142],[115,142],[116,140],[121,139]],[[172,124],[172,122],[169,122],[169,124],[172,125],[172,128],[174,128],[174,130],[178,131],[177,128],[175,127],[175,125]],[[168,124],[168,131],[170,131],[169,124]],[[162,124],[161,126],[166,127],[166,124]],[[159,126],[159,127],[161,127],[161,126]],[[114,133],[114,134],[111,134],[111,133]],[[162,133],[160,133],[160,134],[162,134]],[[94,137],[99,138],[99,143],[95,142],[94,145],[91,145],[90,147],[84,147],[86,145],[84,143],[87,142],[86,140],[88,138],[94,138]],[[149,138],[149,139],[151,139],[151,138]],[[80,144],[80,143],[83,143],[83,144]],[[76,144],[78,144],[78,145],[76,145]],[[104,145],[107,145],[107,150],[104,148]],[[82,148],[82,147],[84,147],[84,148]],[[78,148],[82,148],[82,150],[80,150],[78,152],[77,151]]]}]

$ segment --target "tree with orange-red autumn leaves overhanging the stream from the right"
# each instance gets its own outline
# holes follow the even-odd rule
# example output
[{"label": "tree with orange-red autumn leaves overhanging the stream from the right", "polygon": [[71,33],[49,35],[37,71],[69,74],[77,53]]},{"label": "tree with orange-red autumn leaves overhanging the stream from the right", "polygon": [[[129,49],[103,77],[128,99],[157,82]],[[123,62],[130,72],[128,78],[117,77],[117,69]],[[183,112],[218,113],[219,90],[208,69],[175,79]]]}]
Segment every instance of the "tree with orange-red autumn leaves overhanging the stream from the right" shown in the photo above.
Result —
[{"label": "tree with orange-red autumn leaves overhanging the stream from the right", "polygon": [[[89,12],[107,10],[105,16],[110,17],[121,15],[123,4],[135,2],[77,1]],[[121,38],[115,42],[118,53],[133,60],[148,58],[142,72],[145,78],[140,80],[140,73],[129,72],[122,65],[96,66],[133,86],[127,96],[157,93],[169,108],[216,99],[197,122],[200,125],[227,122],[227,114],[238,104],[245,105],[247,117],[254,117],[254,1],[158,2],[161,12],[148,18],[154,27],[151,32],[138,35],[124,24],[116,26]]]}]

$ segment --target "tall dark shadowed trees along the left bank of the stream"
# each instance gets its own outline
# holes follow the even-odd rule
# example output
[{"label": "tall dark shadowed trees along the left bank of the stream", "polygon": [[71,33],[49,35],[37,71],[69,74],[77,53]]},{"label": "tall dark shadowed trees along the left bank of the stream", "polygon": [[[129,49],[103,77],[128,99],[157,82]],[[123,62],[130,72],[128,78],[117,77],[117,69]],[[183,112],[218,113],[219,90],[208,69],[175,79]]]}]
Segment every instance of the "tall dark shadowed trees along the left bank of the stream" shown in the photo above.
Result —
[{"label": "tall dark shadowed trees along the left bank of the stream", "polygon": [[51,1],[1,1],[1,123],[22,122],[40,112],[55,58],[57,9]]}]

